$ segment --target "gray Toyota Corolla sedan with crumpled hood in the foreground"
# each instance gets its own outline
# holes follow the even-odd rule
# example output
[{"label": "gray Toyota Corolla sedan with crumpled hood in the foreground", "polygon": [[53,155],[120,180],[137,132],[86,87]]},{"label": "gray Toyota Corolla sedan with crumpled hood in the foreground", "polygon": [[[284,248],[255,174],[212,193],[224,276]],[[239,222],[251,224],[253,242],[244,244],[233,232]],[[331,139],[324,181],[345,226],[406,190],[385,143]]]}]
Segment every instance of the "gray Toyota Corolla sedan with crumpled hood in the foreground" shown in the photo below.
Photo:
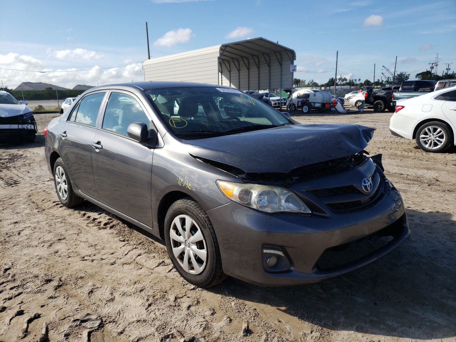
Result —
[{"label": "gray Toyota Corolla sedan with crumpled hood in the foreground", "polygon": [[265,286],[367,265],[410,234],[373,128],[299,124],[233,88],[91,88],[45,129],[66,207],[83,200],[163,239],[188,282]]}]

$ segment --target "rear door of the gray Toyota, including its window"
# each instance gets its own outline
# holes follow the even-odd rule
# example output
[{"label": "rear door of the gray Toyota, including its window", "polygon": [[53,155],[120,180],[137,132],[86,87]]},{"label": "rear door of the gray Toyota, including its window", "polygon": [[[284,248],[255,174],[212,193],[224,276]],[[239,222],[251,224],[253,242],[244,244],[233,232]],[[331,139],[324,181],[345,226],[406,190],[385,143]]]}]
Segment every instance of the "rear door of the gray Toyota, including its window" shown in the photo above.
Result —
[{"label": "rear door of the gray Toyota, including its window", "polygon": [[84,96],[74,107],[58,136],[59,150],[71,181],[84,194],[98,200],[92,172],[92,138],[106,91]]}]

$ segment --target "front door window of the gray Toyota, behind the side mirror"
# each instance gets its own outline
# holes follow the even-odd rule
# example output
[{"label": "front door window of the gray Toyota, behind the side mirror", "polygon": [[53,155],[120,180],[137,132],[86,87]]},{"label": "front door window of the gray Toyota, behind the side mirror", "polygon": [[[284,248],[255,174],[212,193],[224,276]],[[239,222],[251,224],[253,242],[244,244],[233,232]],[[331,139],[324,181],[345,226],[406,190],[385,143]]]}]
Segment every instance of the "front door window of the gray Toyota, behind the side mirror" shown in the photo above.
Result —
[{"label": "front door window of the gray Toyota, behind the side mirror", "polygon": [[149,129],[150,120],[135,98],[124,93],[111,93],[102,128],[128,136],[127,127],[134,122],[146,124]]}]

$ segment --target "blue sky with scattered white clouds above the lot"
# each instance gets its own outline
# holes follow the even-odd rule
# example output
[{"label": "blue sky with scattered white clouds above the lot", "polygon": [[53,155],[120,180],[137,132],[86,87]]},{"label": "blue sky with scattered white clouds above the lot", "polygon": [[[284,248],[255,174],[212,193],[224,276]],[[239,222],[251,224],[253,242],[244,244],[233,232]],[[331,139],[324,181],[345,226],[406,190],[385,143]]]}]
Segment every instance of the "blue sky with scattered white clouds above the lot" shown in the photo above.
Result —
[{"label": "blue sky with scattered white clouds above the lot", "polygon": [[146,21],[152,58],[261,36],[294,49],[295,77],[318,83],[334,77],[337,50],[337,74],[350,78],[372,80],[374,63],[380,78],[396,56],[396,71],[412,79],[436,53],[439,74],[445,63],[456,70],[454,0],[0,0],[0,8],[9,88],[141,81]]}]

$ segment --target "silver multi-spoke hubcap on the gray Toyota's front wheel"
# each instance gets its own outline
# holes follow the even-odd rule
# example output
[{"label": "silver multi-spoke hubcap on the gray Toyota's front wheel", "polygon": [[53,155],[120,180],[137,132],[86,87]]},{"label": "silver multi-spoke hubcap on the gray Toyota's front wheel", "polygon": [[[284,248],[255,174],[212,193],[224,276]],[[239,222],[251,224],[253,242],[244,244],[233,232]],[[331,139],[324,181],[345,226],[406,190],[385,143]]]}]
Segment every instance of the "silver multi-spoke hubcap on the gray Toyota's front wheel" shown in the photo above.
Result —
[{"label": "silver multi-spoke hubcap on the gray Toyota's front wheel", "polygon": [[187,273],[199,275],[206,267],[206,241],[197,223],[188,215],[174,218],[170,228],[171,247]]}]

